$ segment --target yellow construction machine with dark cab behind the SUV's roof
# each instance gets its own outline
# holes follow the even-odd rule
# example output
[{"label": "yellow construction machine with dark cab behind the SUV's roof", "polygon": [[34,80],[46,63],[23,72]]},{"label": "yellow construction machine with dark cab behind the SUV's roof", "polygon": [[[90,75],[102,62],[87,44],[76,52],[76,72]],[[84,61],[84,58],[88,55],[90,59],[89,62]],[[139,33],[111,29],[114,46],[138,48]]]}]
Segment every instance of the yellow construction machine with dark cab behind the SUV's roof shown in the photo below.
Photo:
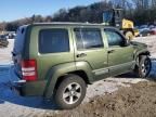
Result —
[{"label": "yellow construction machine with dark cab behind the SUV's roof", "polygon": [[122,17],[122,9],[105,10],[103,12],[103,23],[107,26],[119,28],[129,40],[138,35],[138,31],[134,29],[134,23]]}]

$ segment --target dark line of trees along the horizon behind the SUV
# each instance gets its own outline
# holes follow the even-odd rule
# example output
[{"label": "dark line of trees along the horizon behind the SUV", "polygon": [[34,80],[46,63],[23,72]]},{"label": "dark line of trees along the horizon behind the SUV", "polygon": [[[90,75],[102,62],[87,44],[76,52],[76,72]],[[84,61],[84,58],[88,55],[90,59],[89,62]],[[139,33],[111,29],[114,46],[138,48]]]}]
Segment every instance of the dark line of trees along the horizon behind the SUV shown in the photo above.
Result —
[{"label": "dark line of trees along the horizon behind the SUV", "polygon": [[13,22],[0,23],[0,30],[15,31],[18,26],[43,22],[89,22],[102,23],[103,11],[121,8],[123,17],[131,20],[135,25],[156,23],[156,0],[103,0],[88,6],[61,9],[53,15],[32,15]]}]

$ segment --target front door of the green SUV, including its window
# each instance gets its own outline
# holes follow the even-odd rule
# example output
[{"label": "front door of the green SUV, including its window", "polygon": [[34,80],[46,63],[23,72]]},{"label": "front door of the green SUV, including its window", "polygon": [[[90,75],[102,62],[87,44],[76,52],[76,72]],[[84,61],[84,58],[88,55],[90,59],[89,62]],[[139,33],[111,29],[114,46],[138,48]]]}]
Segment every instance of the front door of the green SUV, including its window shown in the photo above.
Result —
[{"label": "front door of the green SUV, including its window", "polygon": [[108,48],[108,68],[110,75],[119,75],[131,70],[133,64],[133,48],[125,46],[125,37],[116,29],[105,28]]}]

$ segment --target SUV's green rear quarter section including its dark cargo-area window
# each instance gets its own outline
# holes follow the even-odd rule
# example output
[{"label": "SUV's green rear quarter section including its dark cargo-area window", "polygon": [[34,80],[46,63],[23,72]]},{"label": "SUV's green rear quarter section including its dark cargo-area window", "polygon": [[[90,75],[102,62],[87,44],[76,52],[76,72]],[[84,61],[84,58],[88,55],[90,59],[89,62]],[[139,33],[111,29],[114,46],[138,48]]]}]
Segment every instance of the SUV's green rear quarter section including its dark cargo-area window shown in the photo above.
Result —
[{"label": "SUV's green rear quarter section including its dark cargo-area window", "polygon": [[44,79],[49,69],[56,65],[74,64],[73,39],[68,27],[35,26],[31,34],[30,57],[37,60],[39,79]]}]

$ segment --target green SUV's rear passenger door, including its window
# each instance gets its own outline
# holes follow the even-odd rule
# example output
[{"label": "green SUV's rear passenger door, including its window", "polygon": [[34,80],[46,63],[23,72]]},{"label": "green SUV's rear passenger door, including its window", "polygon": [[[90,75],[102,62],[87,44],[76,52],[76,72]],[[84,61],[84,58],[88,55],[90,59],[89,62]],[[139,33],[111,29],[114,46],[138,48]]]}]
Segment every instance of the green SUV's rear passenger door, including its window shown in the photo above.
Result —
[{"label": "green SUV's rear passenger door, including its window", "polygon": [[75,28],[76,62],[86,62],[92,68],[95,80],[108,74],[107,51],[105,49],[101,28]]}]

